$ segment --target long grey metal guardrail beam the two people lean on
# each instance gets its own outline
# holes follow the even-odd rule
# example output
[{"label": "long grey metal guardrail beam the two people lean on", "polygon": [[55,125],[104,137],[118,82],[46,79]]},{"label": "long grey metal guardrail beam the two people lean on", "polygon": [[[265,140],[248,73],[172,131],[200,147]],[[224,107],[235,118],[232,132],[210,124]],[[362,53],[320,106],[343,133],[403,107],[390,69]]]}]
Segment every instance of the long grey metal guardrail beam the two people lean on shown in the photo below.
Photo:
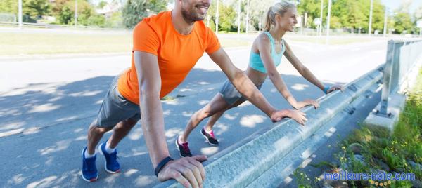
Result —
[{"label": "long grey metal guardrail beam the two people lean on", "polygon": [[[266,173],[300,143],[311,137],[333,117],[347,109],[351,102],[377,85],[383,77],[383,65],[345,86],[345,91],[335,91],[319,99],[319,109],[307,107],[306,126],[299,126],[292,119],[281,121],[262,134],[251,135],[205,161],[207,179],[203,187],[247,187]],[[222,153],[222,154],[220,154]],[[264,186],[263,187],[268,187]],[[156,187],[181,187],[175,180]],[[271,187],[271,186],[269,186]]]}]

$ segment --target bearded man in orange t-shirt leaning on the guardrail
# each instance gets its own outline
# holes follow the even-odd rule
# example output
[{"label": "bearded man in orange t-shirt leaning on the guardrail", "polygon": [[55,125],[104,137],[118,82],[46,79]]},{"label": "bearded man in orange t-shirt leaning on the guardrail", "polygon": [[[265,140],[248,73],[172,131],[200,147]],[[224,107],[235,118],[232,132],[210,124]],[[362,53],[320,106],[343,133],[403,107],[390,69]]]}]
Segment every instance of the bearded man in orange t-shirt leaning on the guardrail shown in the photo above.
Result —
[{"label": "bearded man in orange t-shirt leaning on the guardrail", "polygon": [[[111,129],[113,134],[98,150],[106,157],[106,171],[120,172],[115,147],[141,119],[158,180],[175,179],[185,187],[202,187],[205,170],[200,162],[207,158],[170,158],[160,98],[184,80],[204,52],[219,65],[236,89],[270,116],[271,121],[290,115],[271,107],[252,81],[231,63],[215,34],[202,22],[209,6],[210,0],[176,0],[173,11],[145,18],[136,25],[132,67],[113,81],[97,119],[89,128],[87,147],[82,151],[84,180],[98,178],[95,147]],[[300,113],[293,118],[305,119]]]}]

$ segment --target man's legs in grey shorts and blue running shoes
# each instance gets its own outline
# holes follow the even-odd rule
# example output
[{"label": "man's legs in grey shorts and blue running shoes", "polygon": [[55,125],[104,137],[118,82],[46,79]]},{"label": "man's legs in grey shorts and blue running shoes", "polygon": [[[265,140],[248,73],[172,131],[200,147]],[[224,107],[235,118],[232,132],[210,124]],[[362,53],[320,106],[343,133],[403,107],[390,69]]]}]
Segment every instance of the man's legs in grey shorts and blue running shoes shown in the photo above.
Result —
[{"label": "man's legs in grey shorts and blue running shoes", "polygon": [[120,164],[117,161],[115,147],[140,119],[139,106],[129,102],[118,92],[118,78],[119,76],[116,76],[110,84],[98,116],[88,130],[87,147],[84,147],[82,152],[82,178],[89,182],[98,178],[95,149],[104,133],[114,128],[113,135],[109,139],[110,143],[103,143],[98,148],[106,158],[105,170],[108,173],[118,173]]}]

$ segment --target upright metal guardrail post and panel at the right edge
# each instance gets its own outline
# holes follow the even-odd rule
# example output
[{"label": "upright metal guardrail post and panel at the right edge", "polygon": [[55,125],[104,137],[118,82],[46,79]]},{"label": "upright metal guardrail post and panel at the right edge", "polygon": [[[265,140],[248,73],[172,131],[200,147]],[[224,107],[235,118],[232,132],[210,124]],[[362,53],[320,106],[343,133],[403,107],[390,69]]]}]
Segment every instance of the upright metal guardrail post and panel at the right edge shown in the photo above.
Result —
[{"label": "upright metal guardrail post and panel at the right edge", "polygon": [[399,90],[399,86],[407,79],[407,73],[416,65],[421,54],[422,41],[388,41],[381,107],[376,115],[391,116],[387,112],[388,98]]}]

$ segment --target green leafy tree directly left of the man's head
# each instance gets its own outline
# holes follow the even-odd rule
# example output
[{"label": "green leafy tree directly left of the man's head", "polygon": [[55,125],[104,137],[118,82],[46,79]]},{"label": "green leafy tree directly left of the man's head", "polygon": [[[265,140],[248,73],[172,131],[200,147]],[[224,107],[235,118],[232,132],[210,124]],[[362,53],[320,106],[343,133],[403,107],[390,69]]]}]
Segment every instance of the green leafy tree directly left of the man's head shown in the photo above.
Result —
[{"label": "green leafy tree directly left of the man's head", "polygon": [[124,26],[132,29],[143,18],[165,11],[167,0],[127,0],[123,8]]}]

